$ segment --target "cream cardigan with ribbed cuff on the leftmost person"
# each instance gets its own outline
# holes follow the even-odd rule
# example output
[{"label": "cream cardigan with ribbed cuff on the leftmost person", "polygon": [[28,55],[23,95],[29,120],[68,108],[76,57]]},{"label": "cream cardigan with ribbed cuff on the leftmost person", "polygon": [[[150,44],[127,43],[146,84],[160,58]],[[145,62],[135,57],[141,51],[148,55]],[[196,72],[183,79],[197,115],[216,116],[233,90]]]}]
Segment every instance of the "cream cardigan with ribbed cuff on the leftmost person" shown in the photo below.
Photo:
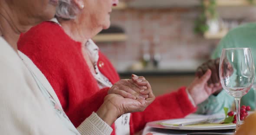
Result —
[{"label": "cream cardigan with ribbed cuff on the leftmost person", "polygon": [[[59,100],[46,77],[19,52],[39,81]],[[0,134],[73,135],[55,115],[33,76],[13,48],[0,37]],[[96,113],[77,128],[81,135],[110,135],[112,129]]]}]

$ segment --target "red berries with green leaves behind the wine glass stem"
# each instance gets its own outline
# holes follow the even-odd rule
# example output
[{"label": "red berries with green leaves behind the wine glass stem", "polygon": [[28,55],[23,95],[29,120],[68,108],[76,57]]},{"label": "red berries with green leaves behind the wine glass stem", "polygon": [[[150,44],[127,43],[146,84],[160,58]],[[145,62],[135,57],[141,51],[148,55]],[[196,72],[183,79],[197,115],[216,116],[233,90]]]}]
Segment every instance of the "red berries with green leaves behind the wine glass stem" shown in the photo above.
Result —
[{"label": "red berries with green leaves behind the wine glass stem", "polygon": [[[233,111],[228,112],[228,108],[224,107],[224,112],[225,112],[225,119],[223,121],[223,124],[227,123],[236,123],[236,114],[234,114]],[[240,108],[240,120],[243,120],[248,116],[248,111],[251,110],[250,106],[242,106]]]}]

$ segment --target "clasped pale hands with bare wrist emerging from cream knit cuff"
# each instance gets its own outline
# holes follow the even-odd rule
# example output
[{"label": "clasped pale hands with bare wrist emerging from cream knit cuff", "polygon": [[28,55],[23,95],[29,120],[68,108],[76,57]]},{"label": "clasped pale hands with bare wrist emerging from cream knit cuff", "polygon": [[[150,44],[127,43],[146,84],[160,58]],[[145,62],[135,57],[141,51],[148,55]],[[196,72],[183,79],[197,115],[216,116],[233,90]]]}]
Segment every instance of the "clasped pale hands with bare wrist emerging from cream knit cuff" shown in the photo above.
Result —
[{"label": "clasped pale hands with bare wrist emerging from cream knit cuff", "polygon": [[125,113],[144,111],[155,100],[149,82],[144,77],[136,75],[132,77],[132,80],[121,80],[113,85],[109,94],[105,96],[104,103],[96,112],[108,125],[112,125]]}]

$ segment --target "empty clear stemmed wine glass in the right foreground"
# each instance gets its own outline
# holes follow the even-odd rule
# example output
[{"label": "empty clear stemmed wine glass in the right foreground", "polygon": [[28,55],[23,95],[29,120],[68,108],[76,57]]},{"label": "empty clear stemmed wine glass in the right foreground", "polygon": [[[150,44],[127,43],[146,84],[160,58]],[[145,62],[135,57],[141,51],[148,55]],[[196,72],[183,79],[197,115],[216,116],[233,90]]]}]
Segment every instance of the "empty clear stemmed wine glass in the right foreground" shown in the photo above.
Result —
[{"label": "empty clear stemmed wine glass in the right foreground", "polygon": [[254,62],[250,48],[222,49],[220,82],[228,94],[235,98],[236,130],[240,126],[240,100],[249,92],[254,80]]}]

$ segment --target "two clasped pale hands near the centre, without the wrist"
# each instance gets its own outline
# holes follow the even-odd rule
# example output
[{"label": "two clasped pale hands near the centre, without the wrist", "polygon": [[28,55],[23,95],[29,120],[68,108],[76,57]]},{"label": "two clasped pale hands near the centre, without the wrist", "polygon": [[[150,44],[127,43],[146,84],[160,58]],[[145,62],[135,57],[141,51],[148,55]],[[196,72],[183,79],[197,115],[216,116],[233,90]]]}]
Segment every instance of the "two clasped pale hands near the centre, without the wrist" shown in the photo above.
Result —
[{"label": "two clasped pale hands near the centre, without the wrist", "polygon": [[131,77],[131,79],[119,80],[105,96],[104,102],[117,109],[118,117],[125,113],[144,111],[155,99],[148,80],[134,74]]}]

